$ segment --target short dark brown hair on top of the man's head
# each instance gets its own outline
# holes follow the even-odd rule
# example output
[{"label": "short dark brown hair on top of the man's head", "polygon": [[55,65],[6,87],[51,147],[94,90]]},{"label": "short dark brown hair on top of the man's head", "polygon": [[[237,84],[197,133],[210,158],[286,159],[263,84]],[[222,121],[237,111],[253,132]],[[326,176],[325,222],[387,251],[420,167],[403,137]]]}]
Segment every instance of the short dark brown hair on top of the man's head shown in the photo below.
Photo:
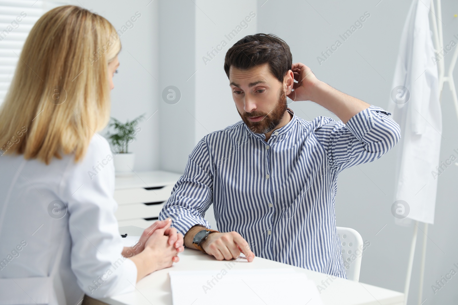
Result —
[{"label": "short dark brown hair on top of the man's head", "polygon": [[293,64],[288,44],[273,34],[248,35],[229,48],[224,59],[224,71],[229,78],[231,66],[245,70],[265,63],[269,64],[270,72],[283,82]]}]

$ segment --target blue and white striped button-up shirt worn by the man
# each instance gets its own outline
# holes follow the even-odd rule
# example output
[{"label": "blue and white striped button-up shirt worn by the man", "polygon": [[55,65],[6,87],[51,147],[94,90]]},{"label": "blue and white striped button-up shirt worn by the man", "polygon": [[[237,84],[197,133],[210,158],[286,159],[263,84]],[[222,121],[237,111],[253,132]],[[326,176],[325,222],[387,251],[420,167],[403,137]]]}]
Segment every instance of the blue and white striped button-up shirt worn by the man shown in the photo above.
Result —
[{"label": "blue and white striped button-up shirt worn by the man", "polygon": [[[257,257],[346,278],[336,230],[338,173],[380,158],[400,139],[390,112],[371,105],[346,124],[293,118],[273,132],[243,121],[207,134],[189,155],[159,219],[183,235],[213,203],[220,232],[236,231]],[[357,191],[355,189],[355,191]]]}]

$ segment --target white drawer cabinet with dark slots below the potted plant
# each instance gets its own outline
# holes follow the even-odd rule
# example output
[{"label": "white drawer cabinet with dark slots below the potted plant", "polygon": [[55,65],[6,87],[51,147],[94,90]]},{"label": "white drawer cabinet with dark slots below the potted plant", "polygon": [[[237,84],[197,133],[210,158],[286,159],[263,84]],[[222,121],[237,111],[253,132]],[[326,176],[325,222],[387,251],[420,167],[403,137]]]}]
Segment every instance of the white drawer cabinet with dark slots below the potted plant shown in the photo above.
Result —
[{"label": "white drawer cabinet with dark slots below the potted plant", "polygon": [[159,217],[180,174],[168,171],[136,172],[131,177],[116,177],[114,200],[119,226],[146,228]]}]

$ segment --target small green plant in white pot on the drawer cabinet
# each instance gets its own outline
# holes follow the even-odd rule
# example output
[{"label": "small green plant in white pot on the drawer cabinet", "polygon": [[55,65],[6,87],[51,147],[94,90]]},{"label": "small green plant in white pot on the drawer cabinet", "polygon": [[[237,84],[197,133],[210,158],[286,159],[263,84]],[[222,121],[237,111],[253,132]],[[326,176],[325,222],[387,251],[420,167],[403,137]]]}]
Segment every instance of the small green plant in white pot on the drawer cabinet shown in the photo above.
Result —
[{"label": "small green plant in white pot on the drawer cabinet", "polygon": [[111,118],[108,127],[113,127],[115,132],[107,133],[107,138],[113,151],[114,171],[116,176],[131,176],[133,174],[135,154],[128,151],[128,145],[131,144],[136,135],[142,131],[137,124],[144,118],[144,114],[134,118],[132,121],[127,120],[122,123],[115,118]]}]

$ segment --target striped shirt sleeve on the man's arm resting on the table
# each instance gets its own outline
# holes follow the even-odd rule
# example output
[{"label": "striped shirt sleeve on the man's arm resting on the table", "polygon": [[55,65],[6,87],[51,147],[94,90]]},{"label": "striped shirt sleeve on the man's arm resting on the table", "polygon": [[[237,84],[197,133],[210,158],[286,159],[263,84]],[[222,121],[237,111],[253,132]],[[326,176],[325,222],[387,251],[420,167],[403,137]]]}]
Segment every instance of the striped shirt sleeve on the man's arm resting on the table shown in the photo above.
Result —
[{"label": "striped shirt sleeve on the man's arm resting on the table", "polygon": [[159,219],[171,218],[172,226],[183,235],[194,225],[210,228],[204,216],[212,203],[211,158],[206,140],[202,138],[189,155],[185,172],[174,185]]}]

